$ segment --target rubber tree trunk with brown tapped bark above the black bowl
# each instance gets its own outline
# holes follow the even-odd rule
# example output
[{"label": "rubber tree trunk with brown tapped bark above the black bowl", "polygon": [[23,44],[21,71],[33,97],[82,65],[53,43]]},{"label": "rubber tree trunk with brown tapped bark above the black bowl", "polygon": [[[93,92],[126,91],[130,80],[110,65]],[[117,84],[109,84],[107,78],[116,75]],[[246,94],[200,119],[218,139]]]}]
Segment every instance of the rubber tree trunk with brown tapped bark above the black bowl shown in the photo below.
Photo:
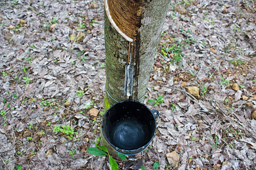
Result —
[{"label": "rubber tree trunk with brown tapped bark above the black bowl", "polygon": [[[134,75],[133,95],[130,99],[138,100],[147,90],[170,0],[107,1],[109,6],[106,7],[105,0],[105,8],[110,11],[117,23],[116,26],[133,39],[130,49],[133,56],[131,64],[134,66]],[[117,101],[127,100],[127,96],[124,95],[125,66],[128,63],[130,43],[129,39],[123,37],[117,28],[113,27],[106,14],[105,10],[106,90],[112,97],[105,92],[104,111]],[[105,140],[104,143],[106,143]]]}]

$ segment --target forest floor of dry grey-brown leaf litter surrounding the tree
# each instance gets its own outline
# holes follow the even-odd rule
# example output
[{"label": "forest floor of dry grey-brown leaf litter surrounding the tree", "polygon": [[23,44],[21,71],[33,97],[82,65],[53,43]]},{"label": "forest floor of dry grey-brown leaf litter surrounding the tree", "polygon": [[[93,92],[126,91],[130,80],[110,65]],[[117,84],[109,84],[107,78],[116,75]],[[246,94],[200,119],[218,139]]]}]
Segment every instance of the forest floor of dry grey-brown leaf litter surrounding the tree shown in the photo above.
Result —
[{"label": "forest floor of dry grey-brown leaf litter surrounding the tree", "polygon": [[[255,169],[255,7],[171,1],[158,52],[172,61],[156,55],[144,100],[156,135],[113,155],[119,169]],[[103,24],[103,0],[0,1],[0,169],[109,169],[86,151],[104,114]]]}]

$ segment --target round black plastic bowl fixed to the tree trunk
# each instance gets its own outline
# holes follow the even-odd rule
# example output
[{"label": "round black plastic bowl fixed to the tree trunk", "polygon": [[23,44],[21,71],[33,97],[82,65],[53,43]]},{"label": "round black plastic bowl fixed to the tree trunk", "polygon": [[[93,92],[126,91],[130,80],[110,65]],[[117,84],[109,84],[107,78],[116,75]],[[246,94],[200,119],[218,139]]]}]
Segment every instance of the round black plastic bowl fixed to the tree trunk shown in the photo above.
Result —
[{"label": "round black plastic bowl fixed to the tree trunk", "polygon": [[120,101],[106,111],[102,133],[117,152],[135,155],[148,147],[155,136],[156,110],[150,110],[138,101]]}]

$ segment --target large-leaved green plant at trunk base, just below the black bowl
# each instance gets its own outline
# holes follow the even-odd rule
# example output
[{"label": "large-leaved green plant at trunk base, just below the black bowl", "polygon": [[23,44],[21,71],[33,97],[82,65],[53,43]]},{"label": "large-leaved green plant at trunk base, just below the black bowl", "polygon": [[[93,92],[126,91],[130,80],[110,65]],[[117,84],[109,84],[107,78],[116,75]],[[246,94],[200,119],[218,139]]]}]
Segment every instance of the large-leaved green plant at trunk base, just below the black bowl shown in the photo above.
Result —
[{"label": "large-leaved green plant at trunk base, just below the black bowl", "polygon": [[[98,141],[96,142],[96,147],[89,147],[87,149],[89,154],[93,154],[95,156],[106,156],[109,155],[109,164],[112,169],[118,169],[118,164],[115,162],[115,160],[110,156],[108,148],[106,146],[100,146],[98,143],[100,142],[100,138],[98,138]],[[120,154],[117,152],[117,155],[122,160],[126,160],[126,155]]]}]

